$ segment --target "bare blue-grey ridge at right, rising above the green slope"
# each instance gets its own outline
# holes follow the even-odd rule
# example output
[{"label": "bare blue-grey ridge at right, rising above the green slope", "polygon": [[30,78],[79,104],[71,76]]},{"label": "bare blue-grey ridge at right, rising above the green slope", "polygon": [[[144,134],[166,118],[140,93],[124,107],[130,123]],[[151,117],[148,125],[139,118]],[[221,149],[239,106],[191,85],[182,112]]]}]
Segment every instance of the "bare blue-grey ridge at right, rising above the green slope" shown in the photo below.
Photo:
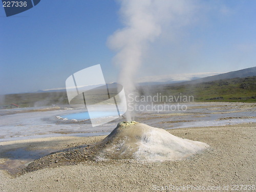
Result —
[{"label": "bare blue-grey ridge at right, rising above the green slope", "polygon": [[209,81],[216,81],[221,79],[231,79],[231,78],[244,78],[244,77],[251,77],[256,76],[256,67],[242,69],[238,71],[232,71],[228,73],[223,73],[219,75],[213,75],[209,77],[203,77],[200,79],[190,80],[190,81],[184,81],[184,82],[178,82],[174,83],[175,86],[183,85],[183,84],[196,84],[201,82],[209,82]]}]

